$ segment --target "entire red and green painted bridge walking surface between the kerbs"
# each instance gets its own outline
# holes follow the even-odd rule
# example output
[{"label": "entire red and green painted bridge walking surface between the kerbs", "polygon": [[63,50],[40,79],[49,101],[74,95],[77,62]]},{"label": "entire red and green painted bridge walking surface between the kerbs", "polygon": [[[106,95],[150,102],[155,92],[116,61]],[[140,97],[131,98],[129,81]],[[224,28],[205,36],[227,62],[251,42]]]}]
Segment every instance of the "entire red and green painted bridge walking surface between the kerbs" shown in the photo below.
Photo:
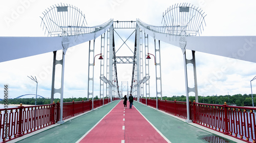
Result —
[{"label": "entire red and green painted bridge walking surface between the kerbs", "polygon": [[[175,143],[208,142],[207,138],[208,140],[217,140],[217,135],[170,117],[151,107],[137,102],[134,102],[134,106],[138,110],[136,108],[124,110],[122,102],[114,101],[80,117],[68,120],[65,124],[19,141],[17,138],[9,142],[122,142],[121,140],[125,140],[125,142],[167,142],[169,140]],[[123,119],[125,120],[123,121]],[[167,141],[149,122],[167,138]],[[92,129],[94,126],[95,128]],[[124,130],[122,126],[124,126]],[[85,134],[87,135],[85,136]],[[232,142],[228,139],[225,140]]]}]

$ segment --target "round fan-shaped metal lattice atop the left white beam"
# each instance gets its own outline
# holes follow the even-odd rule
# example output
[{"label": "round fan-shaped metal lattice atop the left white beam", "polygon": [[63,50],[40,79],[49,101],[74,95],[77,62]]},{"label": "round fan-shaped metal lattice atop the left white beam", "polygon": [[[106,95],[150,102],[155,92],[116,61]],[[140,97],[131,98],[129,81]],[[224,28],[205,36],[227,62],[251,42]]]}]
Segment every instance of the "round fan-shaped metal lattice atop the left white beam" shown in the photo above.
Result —
[{"label": "round fan-shaped metal lattice atop the left white beam", "polygon": [[[48,36],[76,36],[89,33],[87,21],[82,11],[73,5],[61,4],[51,6],[41,17],[41,26]],[[42,25],[43,24],[43,25]]]}]

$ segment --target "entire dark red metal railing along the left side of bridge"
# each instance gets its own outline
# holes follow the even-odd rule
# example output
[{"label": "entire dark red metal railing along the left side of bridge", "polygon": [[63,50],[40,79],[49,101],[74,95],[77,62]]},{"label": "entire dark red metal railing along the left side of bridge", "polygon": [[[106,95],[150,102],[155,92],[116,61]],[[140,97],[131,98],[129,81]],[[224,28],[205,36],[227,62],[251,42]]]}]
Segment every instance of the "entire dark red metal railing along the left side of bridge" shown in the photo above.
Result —
[{"label": "entire dark red metal railing along the left side of bridge", "polygon": [[[117,98],[116,98],[117,99]],[[104,99],[108,104],[109,99]],[[103,104],[103,99],[94,100],[94,108]],[[22,104],[21,104],[22,105]],[[66,120],[92,109],[92,101],[78,101],[63,103],[62,119]],[[7,124],[5,117],[7,116]],[[0,109],[1,141],[7,142],[24,134],[50,126],[59,121],[60,103],[37,106],[19,106],[15,108]],[[8,129],[6,136],[6,128]]]}]

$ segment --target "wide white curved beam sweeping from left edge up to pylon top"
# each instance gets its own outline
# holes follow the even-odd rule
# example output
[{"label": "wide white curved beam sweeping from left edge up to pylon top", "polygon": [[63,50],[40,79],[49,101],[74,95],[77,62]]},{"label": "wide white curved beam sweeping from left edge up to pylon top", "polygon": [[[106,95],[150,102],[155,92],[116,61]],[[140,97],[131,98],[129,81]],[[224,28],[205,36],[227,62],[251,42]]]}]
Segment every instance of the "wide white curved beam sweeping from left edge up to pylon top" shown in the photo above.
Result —
[{"label": "wide white curved beam sweeping from left edge up to pylon top", "polygon": [[[92,33],[68,37],[0,37],[0,63],[32,55],[62,50],[63,39],[69,39],[69,47],[93,40],[105,33],[113,19],[102,24],[102,28]],[[90,27],[88,27],[90,28]]]}]

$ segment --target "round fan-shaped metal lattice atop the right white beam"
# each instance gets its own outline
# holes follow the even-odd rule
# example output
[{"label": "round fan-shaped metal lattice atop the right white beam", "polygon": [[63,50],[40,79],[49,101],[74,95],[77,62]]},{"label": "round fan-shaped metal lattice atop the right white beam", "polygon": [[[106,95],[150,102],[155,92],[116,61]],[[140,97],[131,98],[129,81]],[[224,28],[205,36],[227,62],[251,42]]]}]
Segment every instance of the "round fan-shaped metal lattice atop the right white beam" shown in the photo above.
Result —
[{"label": "round fan-shaped metal lattice atop the right white beam", "polygon": [[205,16],[199,7],[187,3],[175,4],[163,12],[162,23],[168,34],[196,36],[202,33],[203,23],[206,25]]}]

